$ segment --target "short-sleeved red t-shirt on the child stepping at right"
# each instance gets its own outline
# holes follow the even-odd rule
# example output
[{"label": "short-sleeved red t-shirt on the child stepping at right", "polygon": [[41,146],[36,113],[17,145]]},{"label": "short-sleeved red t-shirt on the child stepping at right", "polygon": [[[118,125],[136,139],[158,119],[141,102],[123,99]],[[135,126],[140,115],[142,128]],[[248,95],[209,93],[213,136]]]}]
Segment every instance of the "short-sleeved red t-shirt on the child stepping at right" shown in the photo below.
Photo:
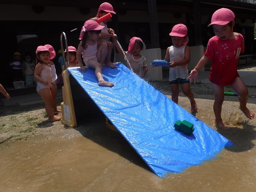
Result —
[{"label": "short-sleeved red t-shirt on the child stepping at right", "polygon": [[244,53],[244,38],[241,34],[235,39],[221,40],[217,36],[210,38],[206,52],[209,59],[212,59],[209,80],[217,85],[230,85],[239,77],[237,72],[238,48]]}]

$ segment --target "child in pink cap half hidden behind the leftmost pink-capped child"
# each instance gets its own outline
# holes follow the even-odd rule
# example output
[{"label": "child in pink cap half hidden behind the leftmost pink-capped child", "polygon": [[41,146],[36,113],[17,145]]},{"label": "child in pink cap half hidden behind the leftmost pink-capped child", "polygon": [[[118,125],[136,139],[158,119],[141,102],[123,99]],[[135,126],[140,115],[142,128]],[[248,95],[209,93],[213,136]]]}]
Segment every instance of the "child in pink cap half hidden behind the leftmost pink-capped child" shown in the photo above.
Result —
[{"label": "child in pink cap half hidden behind the leftmost pink-capped child", "polygon": [[50,89],[51,93],[52,93],[52,110],[53,110],[53,114],[58,114],[59,112],[61,112],[61,110],[57,109],[57,74],[56,74],[56,67],[55,64],[53,63],[52,59],[55,58],[56,56],[56,52],[53,49],[53,47],[49,44],[46,44],[45,47],[47,49],[49,49],[50,51],[50,60],[49,60],[49,67],[51,68],[51,75],[52,75],[52,89]]}]

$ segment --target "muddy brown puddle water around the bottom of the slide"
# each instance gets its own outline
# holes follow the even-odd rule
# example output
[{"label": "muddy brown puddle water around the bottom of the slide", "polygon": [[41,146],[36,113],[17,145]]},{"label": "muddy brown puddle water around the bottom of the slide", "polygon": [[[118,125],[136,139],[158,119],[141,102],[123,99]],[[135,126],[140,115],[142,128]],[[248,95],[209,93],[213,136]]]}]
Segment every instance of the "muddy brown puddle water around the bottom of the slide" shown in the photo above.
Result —
[{"label": "muddy brown puddle water around the bottom of the slide", "polygon": [[[206,106],[207,107],[207,106]],[[213,114],[200,110],[208,125]],[[227,116],[226,119],[229,117]],[[239,117],[236,118],[236,120]],[[236,121],[235,120],[235,121]],[[219,131],[235,143],[183,173],[158,177],[119,133],[105,128],[80,137],[32,136],[0,145],[0,191],[169,192],[256,190],[256,131],[244,122]]]}]

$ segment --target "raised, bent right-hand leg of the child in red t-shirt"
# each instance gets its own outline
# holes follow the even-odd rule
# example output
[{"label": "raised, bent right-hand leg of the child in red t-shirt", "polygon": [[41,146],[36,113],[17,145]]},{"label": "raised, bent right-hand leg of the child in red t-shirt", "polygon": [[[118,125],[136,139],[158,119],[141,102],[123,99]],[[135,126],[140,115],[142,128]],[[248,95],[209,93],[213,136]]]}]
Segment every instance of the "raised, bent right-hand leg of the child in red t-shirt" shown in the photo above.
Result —
[{"label": "raised, bent right-hand leg of the child in red t-shirt", "polygon": [[229,86],[238,94],[240,110],[245,114],[246,117],[253,119],[254,113],[246,107],[248,101],[248,89],[241,77],[235,78],[235,81]]}]

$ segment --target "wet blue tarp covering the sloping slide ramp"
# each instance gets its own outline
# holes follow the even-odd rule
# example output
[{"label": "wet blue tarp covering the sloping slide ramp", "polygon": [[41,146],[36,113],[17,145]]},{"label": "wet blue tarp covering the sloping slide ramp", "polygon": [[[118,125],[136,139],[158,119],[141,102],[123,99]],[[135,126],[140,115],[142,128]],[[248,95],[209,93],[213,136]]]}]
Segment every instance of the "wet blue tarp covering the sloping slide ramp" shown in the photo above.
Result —
[{"label": "wet blue tarp covering the sloping slide ramp", "polygon": [[[68,70],[155,174],[182,172],[232,145],[122,63],[116,65],[102,70],[114,87],[100,87],[93,69]],[[174,130],[177,120],[193,123],[192,135]]]}]

